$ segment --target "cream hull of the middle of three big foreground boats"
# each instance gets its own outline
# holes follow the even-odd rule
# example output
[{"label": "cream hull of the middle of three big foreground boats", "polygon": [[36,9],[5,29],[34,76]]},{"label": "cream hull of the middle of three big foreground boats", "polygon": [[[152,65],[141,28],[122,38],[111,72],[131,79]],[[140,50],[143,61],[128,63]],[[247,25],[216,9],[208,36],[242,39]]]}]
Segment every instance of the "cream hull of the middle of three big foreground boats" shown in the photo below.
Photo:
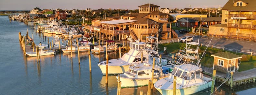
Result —
[{"label": "cream hull of the middle of three big foreground boats", "polygon": [[[166,77],[168,77],[168,75],[154,78],[153,79],[153,84],[157,80],[163,79],[163,78],[166,78]],[[118,76],[116,76],[116,78],[118,79]],[[120,76],[120,81],[122,81],[121,88],[125,88],[125,87],[138,87],[138,86],[148,85],[148,80],[151,80],[151,78],[149,78],[149,79],[131,79],[131,78],[122,78]]]}]

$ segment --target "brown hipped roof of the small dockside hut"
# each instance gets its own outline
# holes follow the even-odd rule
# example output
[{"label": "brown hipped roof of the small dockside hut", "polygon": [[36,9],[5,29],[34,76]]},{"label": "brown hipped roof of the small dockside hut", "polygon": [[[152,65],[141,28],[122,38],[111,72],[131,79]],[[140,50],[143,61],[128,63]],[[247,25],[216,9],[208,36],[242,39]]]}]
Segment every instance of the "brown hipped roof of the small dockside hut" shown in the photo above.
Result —
[{"label": "brown hipped roof of the small dockside hut", "polygon": [[221,58],[226,58],[226,59],[242,58],[239,55],[236,55],[236,54],[233,54],[233,53],[230,53],[230,52],[227,52],[227,51],[216,53],[216,54],[212,54],[211,56],[213,56],[213,57],[221,57]]}]

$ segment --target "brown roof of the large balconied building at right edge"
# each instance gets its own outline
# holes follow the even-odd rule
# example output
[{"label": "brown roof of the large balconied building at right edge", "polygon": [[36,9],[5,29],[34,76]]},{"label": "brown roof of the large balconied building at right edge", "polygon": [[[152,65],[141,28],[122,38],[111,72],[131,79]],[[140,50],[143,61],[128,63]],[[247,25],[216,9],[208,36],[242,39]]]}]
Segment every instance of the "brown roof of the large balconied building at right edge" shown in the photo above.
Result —
[{"label": "brown roof of the large balconied building at right edge", "polygon": [[255,11],[256,10],[256,0],[240,0],[247,3],[246,6],[234,6],[233,2],[236,3],[239,0],[229,0],[223,7],[222,10],[228,11]]}]

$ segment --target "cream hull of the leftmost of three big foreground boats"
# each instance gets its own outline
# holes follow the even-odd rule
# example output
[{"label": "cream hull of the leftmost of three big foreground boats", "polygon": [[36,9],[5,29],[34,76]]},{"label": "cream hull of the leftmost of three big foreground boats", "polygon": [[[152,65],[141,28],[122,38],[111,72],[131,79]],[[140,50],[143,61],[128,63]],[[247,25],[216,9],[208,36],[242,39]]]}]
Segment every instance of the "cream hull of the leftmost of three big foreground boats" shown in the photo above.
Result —
[{"label": "cream hull of the leftmost of three big foreground boats", "polygon": [[[98,64],[98,66],[101,69],[101,72],[103,75],[106,75],[106,65],[105,64]],[[121,66],[108,66],[108,74],[122,74],[126,71],[128,71],[130,65],[121,65]],[[111,69],[111,70],[110,70]]]}]

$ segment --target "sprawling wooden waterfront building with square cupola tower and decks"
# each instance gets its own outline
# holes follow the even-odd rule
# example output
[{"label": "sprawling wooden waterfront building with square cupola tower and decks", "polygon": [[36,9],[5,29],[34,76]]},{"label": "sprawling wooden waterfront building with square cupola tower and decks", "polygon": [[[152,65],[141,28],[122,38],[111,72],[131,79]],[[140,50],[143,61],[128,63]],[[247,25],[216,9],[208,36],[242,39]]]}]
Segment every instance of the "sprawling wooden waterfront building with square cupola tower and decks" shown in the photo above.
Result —
[{"label": "sprawling wooden waterfront building with square cupola tower and decks", "polygon": [[148,36],[166,39],[177,37],[171,30],[169,14],[159,12],[159,6],[145,4],[139,6],[139,13],[124,14],[121,19],[99,22],[100,25],[85,26],[86,31],[96,32],[94,37],[104,36],[106,39],[117,37],[125,39],[128,35],[134,40],[146,41]]}]

